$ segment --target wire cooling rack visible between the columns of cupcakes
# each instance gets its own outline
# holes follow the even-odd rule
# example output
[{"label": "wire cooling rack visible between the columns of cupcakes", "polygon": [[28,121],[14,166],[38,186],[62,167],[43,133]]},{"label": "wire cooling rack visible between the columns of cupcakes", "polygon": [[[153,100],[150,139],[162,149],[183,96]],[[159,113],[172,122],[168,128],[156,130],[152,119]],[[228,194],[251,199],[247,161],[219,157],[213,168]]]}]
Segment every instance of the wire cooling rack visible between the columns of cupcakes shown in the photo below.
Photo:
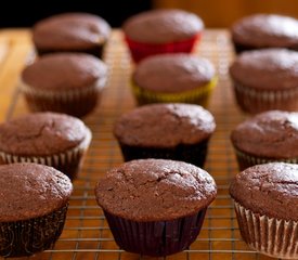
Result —
[{"label": "wire cooling rack visible between the columns of cupcakes", "polygon": [[[28,41],[29,42],[29,41]],[[30,44],[28,43],[27,44]],[[23,43],[24,44],[24,43]],[[15,46],[23,48],[24,46]],[[30,49],[27,48],[28,50]],[[24,49],[25,50],[25,49]],[[233,49],[225,30],[206,30],[195,54],[209,58],[219,75],[209,110],[215,115],[217,130],[207,157],[206,170],[218,184],[217,199],[209,207],[198,238],[191,247],[166,259],[177,260],[269,260],[271,258],[251,251],[241,239],[234,209],[228,193],[231,178],[237,172],[230,131],[245,119],[236,105],[229,78],[229,64]],[[85,119],[93,132],[93,140],[82,171],[74,182],[74,194],[62,236],[52,250],[30,257],[41,260],[134,260],[148,259],[120,250],[115,244],[102,210],[96,206],[93,188],[96,181],[114,166],[122,162],[120,150],[113,138],[116,118],[135,106],[129,77],[133,65],[121,40],[121,32],[114,30],[106,47],[105,62],[109,67],[109,80],[96,110]],[[7,117],[27,113],[23,96],[16,88]]]}]

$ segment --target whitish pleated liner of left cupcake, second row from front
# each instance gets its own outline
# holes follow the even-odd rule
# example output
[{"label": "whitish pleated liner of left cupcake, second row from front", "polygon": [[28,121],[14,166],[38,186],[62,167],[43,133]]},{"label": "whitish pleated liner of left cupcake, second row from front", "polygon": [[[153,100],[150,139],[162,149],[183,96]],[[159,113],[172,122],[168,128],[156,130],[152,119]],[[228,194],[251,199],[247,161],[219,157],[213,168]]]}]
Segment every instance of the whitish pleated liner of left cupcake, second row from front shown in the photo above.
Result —
[{"label": "whitish pleated liner of left cupcake, second row from front", "polygon": [[0,158],[3,161],[3,164],[36,162],[40,165],[51,166],[53,168],[67,168],[67,165],[70,165],[73,161],[79,161],[82,158],[85,152],[89,147],[92,133],[89,130],[89,128],[86,129],[87,134],[83,141],[80,142],[76,147],[70,148],[68,151],[47,156],[22,156],[0,151]]}]

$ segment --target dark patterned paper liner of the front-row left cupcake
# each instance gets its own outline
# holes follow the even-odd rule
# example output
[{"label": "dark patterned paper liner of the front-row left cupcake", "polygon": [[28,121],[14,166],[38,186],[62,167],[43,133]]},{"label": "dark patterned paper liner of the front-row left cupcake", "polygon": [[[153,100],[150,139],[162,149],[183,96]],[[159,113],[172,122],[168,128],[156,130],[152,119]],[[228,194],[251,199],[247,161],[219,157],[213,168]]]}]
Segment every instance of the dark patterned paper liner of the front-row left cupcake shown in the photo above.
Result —
[{"label": "dark patterned paper liner of the front-row left cupcake", "polygon": [[26,257],[51,248],[63,231],[67,207],[39,218],[0,222],[0,256]]}]

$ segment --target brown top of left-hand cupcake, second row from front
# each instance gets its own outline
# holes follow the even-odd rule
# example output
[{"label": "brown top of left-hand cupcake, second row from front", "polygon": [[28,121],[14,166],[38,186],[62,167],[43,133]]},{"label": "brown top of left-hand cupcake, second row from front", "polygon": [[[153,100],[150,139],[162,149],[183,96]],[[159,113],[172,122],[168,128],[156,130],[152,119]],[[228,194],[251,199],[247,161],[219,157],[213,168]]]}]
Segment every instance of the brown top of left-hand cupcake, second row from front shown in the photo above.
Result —
[{"label": "brown top of left-hand cupcake, second row from front", "polygon": [[44,156],[72,150],[90,136],[72,116],[34,113],[0,123],[0,151],[21,156]]}]

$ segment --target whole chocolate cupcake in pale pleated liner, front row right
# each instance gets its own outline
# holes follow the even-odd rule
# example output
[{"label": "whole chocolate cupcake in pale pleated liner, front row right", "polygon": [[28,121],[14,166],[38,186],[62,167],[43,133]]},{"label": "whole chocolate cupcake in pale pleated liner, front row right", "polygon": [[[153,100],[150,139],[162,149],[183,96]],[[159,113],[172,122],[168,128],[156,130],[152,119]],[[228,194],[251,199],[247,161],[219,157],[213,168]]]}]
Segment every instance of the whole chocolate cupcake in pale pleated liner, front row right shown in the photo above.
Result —
[{"label": "whole chocolate cupcake in pale pleated liner, front row right", "polygon": [[261,253],[298,259],[298,165],[271,162],[238,173],[230,186],[245,243]]}]

